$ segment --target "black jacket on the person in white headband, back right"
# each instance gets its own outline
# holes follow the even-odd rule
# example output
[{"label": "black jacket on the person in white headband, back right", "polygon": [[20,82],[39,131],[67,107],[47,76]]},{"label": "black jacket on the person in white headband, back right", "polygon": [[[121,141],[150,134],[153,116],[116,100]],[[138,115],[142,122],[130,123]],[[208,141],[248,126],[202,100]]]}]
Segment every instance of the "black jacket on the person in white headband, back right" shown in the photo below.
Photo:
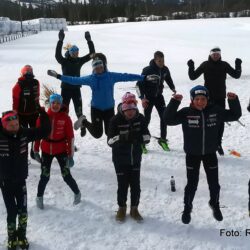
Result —
[{"label": "black jacket on the person in white headband, back right", "polygon": [[209,90],[210,100],[226,98],[226,78],[229,74],[233,78],[240,78],[241,65],[235,65],[233,69],[225,61],[213,61],[209,56],[208,61],[203,62],[196,70],[189,67],[188,75],[191,80],[197,79],[204,74],[204,85]]}]

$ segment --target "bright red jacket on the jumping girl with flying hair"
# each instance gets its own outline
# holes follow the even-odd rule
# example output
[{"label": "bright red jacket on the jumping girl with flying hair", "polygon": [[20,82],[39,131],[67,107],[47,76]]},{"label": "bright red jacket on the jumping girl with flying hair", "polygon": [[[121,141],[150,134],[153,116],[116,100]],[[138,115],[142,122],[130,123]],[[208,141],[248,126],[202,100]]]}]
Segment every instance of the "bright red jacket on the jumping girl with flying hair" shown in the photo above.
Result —
[{"label": "bright red jacket on the jumping girl with flying hair", "polygon": [[[68,156],[73,156],[74,132],[70,117],[64,109],[56,113],[49,109],[47,113],[51,122],[51,133],[46,139],[35,142],[34,151],[39,152],[41,146],[42,152],[46,154],[67,153]],[[40,126],[39,118],[36,126]]]}]

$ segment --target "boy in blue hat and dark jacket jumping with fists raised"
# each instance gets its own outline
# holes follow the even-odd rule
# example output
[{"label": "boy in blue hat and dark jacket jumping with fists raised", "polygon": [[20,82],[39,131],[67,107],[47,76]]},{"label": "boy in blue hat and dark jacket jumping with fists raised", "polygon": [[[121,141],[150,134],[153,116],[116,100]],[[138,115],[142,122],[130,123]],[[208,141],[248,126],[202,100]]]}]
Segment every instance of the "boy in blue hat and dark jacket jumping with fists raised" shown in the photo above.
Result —
[{"label": "boy in blue hat and dark jacket jumping with fists raised", "polygon": [[199,182],[200,164],[207,176],[210,200],[209,206],[217,221],[223,220],[220,210],[220,185],[218,177],[217,136],[221,123],[237,121],[241,116],[240,102],[236,94],[228,93],[229,110],[215,104],[208,104],[209,91],[204,86],[190,90],[190,107],[177,111],[182,95],[174,95],[168,104],[164,118],[168,125],[182,124],[184,151],[186,153],[187,185],[184,192],[182,222],[189,224],[193,209],[193,199]]}]

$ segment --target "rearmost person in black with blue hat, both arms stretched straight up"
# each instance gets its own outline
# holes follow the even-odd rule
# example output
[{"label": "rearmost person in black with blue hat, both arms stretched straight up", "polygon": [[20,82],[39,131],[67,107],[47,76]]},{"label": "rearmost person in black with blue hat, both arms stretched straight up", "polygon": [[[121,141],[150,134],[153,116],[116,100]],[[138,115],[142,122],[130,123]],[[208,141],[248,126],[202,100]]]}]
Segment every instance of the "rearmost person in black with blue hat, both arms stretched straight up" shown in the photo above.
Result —
[{"label": "rearmost person in black with blue hat, both arms stretched straight up", "polygon": [[[94,43],[91,40],[90,33],[88,31],[85,32],[85,39],[88,43],[89,54],[83,57],[79,57],[79,48],[76,45],[70,46],[65,53],[65,57],[63,57],[62,46],[65,37],[63,30],[60,30],[58,37],[59,41],[57,42],[55,57],[57,62],[62,66],[63,75],[79,77],[81,72],[81,67],[83,66],[83,64],[90,61],[95,53],[95,47]],[[77,118],[79,118],[83,114],[82,96],[80,88],[81,88],[80,85],[74,86],[64,81],[62,81],[61,83],[61,96],[63,98],[63,104],[69,107],[70,100],[72,99]],[[85,136],[85,134],[86,134],[86,129],[85,127],[83,127],[81,129],[81,136]]]}]

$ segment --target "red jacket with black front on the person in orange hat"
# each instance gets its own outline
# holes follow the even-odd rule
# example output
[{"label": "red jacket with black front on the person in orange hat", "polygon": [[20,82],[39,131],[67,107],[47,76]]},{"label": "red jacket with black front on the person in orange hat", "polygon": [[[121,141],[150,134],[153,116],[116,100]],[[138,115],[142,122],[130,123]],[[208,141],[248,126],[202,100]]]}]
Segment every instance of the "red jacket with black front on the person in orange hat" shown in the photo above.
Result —
[{"label": "red jacket with black front on the person in orange hat", "polygon": [[21,115],[32,115],[37,113],[39,104],[40,84],[36,79],[18,78],[12,88],[13,110]]}]

